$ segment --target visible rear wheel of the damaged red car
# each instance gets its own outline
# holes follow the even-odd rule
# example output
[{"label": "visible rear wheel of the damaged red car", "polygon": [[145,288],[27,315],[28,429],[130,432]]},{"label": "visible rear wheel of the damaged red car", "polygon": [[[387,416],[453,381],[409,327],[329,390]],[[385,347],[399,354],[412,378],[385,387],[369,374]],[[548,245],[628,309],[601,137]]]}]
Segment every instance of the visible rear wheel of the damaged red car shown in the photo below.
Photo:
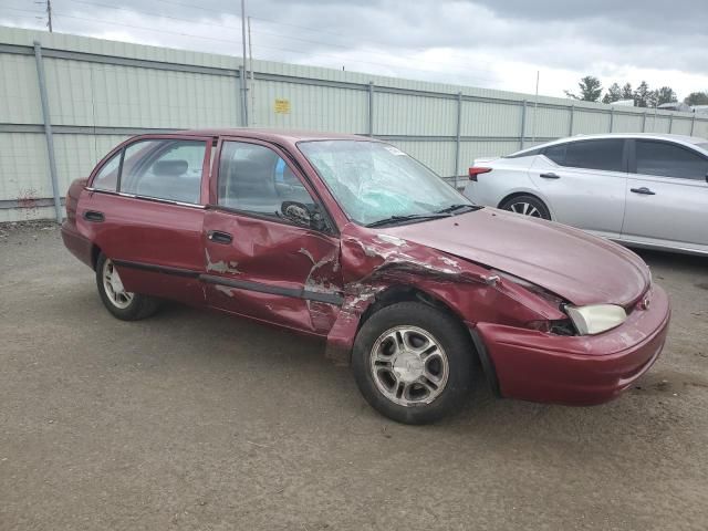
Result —
[{"label": "visible rear wheel of the damaged red car", "polygon": [[101,253],[96,261],[96,285],[106,309],[123,321],[137,321],[157,311],[155,298],[126,291],[113,260]]}]

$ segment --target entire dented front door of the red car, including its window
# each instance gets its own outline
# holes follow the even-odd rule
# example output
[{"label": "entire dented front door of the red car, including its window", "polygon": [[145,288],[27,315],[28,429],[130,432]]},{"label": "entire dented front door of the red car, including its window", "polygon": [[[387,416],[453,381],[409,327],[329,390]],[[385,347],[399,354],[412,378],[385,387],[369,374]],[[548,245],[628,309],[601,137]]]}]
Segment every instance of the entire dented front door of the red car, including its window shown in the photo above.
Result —
[{"label": "entire dented front door of the red car, including its window", "polygon": [[226,140],[218,157],[202,235],[208,304],[326,334],[342,300],[340,240],[281,212],[284,201],[312,208],[311,188],[264,143]]}]

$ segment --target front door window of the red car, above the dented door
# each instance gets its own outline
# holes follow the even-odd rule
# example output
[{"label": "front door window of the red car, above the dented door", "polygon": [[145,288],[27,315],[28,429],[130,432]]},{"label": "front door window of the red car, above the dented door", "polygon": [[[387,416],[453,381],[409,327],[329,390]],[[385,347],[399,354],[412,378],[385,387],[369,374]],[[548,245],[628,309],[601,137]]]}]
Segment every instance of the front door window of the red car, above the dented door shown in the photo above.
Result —
[{"label": "front door window of the red car, above the dented door", "polygon": [[287,201],[316,210],[312,196],[275,152],[258,144],[223,143],[219,160],[220,206],[280,219]]}]

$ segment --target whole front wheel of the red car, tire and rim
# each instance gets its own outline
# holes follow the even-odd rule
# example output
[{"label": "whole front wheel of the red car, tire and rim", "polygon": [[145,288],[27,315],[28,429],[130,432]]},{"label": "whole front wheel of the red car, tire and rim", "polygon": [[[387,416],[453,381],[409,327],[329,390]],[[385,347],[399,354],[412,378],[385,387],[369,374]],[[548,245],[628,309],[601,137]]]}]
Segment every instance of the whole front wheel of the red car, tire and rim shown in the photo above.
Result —
[{"label": "whole front wheel of the red car, tire and rim", "polygon": [[364,323],[352,366],[372,407],[399,423],[426,424],[464,403],[472,356],[469,334],[456,319],[427,304],[402,302]]}]

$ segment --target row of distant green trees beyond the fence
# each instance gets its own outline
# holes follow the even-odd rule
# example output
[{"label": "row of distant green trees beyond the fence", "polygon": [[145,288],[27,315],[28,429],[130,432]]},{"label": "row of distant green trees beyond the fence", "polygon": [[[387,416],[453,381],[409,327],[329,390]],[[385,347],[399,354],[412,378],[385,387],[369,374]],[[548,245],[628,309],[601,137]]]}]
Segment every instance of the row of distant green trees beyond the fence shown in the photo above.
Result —
[{"label": "row of distant green trees beyond the fence", "polygon": [[[584,102],[614,103],[620,100],[634,100],[634,105],[637,107],[658,107],[665,103],[678,102],[676,92],[670,86],[652,90],[646,81],[639,83],[636,88],[632,87],[632,83],[625,83],[624,86],[613,83],[604,95],[602,82],[594,75],[581,77],[577,86],[580,88],[577,94],[570,91],[563,92],[568,97]],[[686,105],[708,105],[708,92],[691,92],[684,98],[684,103]]]}]

